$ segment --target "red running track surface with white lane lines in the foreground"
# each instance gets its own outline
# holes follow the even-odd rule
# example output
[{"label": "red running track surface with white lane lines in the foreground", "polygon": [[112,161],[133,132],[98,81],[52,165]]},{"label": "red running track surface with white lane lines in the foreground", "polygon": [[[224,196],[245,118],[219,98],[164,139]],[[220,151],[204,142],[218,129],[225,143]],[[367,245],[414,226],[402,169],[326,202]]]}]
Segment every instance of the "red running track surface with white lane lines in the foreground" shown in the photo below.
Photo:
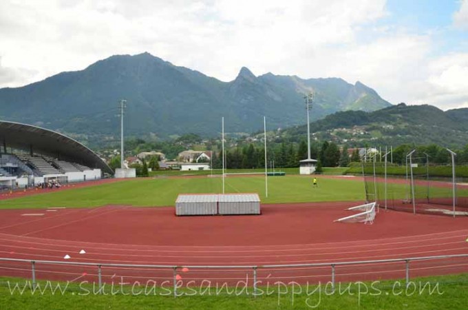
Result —
[{"label": "red running track surface with white lane lines in the foreground", "polygon": [[[1,210],[0,257],[141,265],[282,265],[468,254],[468,218],[381,210],[374,225],[333,223],[359,203],[262,205],[261,216],[176,217],[171,207]],[[51,211],[54,210],[54,211]],[[25,215],[43,214],[43,215]],[[86,254],[78,254],[85,249]],[[468,258],[411,262],[411,276],[468,272]],[[182,281],[251,283],[251,269],[178,271]],[[330,267],[258,270],[258,280],[327,282]],[[30,278],[23,262],[1,276]],[[36,264],[37,278],[96,281],[96,267]],[[405,264],[338,266],[337,281],[404,278]],[[103,267],[105,282],[170,281],[172,269]]]}]

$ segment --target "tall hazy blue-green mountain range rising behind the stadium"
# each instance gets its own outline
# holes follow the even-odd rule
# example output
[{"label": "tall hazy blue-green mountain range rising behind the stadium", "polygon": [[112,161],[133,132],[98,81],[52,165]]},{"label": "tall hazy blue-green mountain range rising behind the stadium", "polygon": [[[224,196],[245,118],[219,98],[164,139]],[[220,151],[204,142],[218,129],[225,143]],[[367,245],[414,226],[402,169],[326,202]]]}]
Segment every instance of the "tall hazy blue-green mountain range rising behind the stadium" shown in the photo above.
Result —
[{"label": "tall hazy blue-green mountain range rising behind the stadium", "polygon": [[231,82],[178,67],[148,53],[111,56],[85,70],[62,72],[44,81],[0,89],[0,119],[39,125],[72,135],[117,136],[118,101],[127,100],[128,135],[193,132],[215,135],[254,132],[306,123],[304,94],[315,93],[311,121],[345,110],[389,107],[361,82],[300,79],[242,68]]}]

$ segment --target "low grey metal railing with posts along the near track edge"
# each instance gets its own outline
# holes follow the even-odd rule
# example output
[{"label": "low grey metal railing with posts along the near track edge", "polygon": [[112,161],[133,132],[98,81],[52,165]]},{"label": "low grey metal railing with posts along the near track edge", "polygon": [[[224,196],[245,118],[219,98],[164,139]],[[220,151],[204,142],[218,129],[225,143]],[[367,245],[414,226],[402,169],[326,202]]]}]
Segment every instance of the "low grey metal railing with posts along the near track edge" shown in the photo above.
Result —
[{"label": "low grey metal railing with posts along the near track edge", "polygon": [[[364,265],[364,264],[388,264],[403,262],[405,263],[405,284],[406,287],[409,285],[409,263],[417,261],[427,261],[427,260],[443,260],[447,258],[468,258],[468,254],[453,254],[453,255],[443,255],[443,256],[422,256],[422,257],[411,257],[411,258],[393,258],[393,259],[384,259],[384,260],[359,260],[359,261],[350,261],[350,262],[319,262],[319,263],[310,263],[310,264],[284,264],[284,265],[133,265],[133,264],[111,264],[105,262],[61,262],[54,260],[25,260],[17,258],[0,258],[0,261],[3,262],[26,262],[31,264],[30,274],[32,280],[32,286],[36,286],[36,266],[38,264],[48,264],[48,265],[68,265],[68,266],[87,266],[87,267],[96,267],[97,276],[98,276],[98,293],[103,293],[103,267],[125,267],[131,269],[141,269],[141,268],[151,268],[151,269],[167,269],[167,271],[172,271],[172,283],[173,287],[173,296],[177,297],[178,289],[178,271],[182,269],[247,269],[250,270],[253,276],[253,295],[255,296],[258,286],[257,281],[257,272],[262,269],[282,269],[282,268],[297,268],[297,267],[330,267],[330,284],[332,292],[334,292],[336,285],[336,267],[339,266],[355,266],[355,265]],[[468,260],[463,262],[462,266],[468,266]],[[434,267],[429,267],[434,268]],[[462,272],[465,272],[463,270]]]}]

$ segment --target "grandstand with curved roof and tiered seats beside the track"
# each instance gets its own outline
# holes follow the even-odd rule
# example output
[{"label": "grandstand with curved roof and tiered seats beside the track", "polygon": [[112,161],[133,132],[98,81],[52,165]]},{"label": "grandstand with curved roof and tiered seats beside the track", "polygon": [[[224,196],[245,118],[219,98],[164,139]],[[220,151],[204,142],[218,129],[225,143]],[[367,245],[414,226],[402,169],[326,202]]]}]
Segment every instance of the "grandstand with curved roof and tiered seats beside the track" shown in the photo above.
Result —
[{"label": "grandstand with curved roof and tiered seats beside the track", "polygon": [[66,184],[113,174],[98,154],[58,132],[0,121],[0,190]]}]

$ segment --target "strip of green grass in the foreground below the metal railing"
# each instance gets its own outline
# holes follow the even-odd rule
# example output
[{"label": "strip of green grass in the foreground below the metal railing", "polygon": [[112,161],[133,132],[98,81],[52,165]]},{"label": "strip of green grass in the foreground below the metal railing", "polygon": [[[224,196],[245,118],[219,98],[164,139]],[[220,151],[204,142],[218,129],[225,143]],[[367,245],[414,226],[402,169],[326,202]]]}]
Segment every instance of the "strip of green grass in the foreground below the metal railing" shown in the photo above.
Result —
[{"label": "strip of green grass in the foreground below the metal railing", "polygon": [[[208,293],[196,289],[194,296],[174,298],[172,295],[162,296],[167,291],[134,295],[131,286],[124,289],[116,286],[115,295],[110,291],[107,295],[98,295],[92,293],[91,285],[72,283],[65,289],[64,282],[60,284],[63,293],[58,289],[55,293],[51,289],[32,293],[29,288],[23,293],[11,292],[14,283],[25,287],[25,281],[0,278],[0,309],[466,309],[468,289],[468,274],[465,273],[412,279],[407,290],[403,280],[342,283],[335,293],[330,293],[329,288],[326,291],[323,283],[321,287],[296,286],[295,294],[290,286],[270,287],[270,294],[263,293],[256,298],[251,296],[252,288],[248,288],[249,295],[236,296],[224,289],[217,296],[215,290]],[[46,283],[39,284],[43,289]],[[52,287],[56,285],[56,282],[52,283]],[[347,287],[350,288],[348,291]],[[86,293],[83,288],[91,293]],[[265,287],[261,289],[266,292]]]}]

